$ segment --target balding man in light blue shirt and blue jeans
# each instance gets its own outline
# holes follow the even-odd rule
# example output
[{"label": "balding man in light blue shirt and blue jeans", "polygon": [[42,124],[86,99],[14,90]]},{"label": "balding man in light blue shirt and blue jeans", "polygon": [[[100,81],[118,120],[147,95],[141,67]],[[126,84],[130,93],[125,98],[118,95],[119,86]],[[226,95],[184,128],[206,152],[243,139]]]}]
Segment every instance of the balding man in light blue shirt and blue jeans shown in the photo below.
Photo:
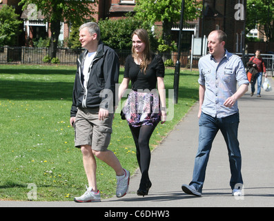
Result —
[{"label": "balding man in light blue shirt and blue jeans", "polygon": [[[185,193],[201,196],[211,146],[220,130],[228,148],[233,195],[242,195],[242,157],[237,140],[237,99],[248,91],[244,64],[225,48],[226,34],[214,30],[208,35],[209,54],[199,59],[199,147],[193,180],[183,184]],[[238,88],[237,88],[238,84]]]}]

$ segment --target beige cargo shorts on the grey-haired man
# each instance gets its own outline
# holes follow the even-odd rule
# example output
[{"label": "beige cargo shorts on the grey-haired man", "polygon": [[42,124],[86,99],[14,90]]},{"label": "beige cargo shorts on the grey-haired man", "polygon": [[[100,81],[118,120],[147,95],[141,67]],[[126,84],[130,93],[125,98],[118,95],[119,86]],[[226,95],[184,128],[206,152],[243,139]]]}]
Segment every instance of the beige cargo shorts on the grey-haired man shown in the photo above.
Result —
[{"label": "beige cargo shorts on the grey-haired man", "polygon": [[94,151],[107,151],[112,133],[113,113],[98,118],[99,108],[78,108],[75,119],[75,146],[91,146]]}]

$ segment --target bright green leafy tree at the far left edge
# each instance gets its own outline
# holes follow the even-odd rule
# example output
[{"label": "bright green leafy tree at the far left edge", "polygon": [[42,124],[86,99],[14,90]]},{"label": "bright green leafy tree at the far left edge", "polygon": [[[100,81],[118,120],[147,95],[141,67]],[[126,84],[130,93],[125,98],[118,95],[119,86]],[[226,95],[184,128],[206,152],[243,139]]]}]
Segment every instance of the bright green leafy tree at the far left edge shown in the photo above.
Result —
[{"label": "bright green leafy tree at the far left edge", "polygon": [[0,46],[14,46],[22,21],[18,20],[12,6],[4,5],[0,10]]}]

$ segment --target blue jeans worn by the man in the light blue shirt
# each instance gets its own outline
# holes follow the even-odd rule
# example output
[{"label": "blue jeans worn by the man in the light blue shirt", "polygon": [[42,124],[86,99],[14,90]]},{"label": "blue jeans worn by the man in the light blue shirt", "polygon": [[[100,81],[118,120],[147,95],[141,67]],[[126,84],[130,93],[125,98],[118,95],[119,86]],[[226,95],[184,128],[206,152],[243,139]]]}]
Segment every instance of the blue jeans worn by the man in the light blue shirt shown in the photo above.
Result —
[{"label": "blue jeans worn by the man in the light blue shirt", "polygon": [[206,166],[211,152],[211,146],[219,130],[224,136],[228,149],[231,169],[231,189],[234,189],[236,184],[243,184],[241,173],[242,156],[237,139],[238,126],[239,113],[223,118],[211,117],[210,115],[202,113],[199,119],[199,147],[195,157],[193,180],[190,182],[190,185],[193,185],[200,193],[202,193],[204,185]]}]

